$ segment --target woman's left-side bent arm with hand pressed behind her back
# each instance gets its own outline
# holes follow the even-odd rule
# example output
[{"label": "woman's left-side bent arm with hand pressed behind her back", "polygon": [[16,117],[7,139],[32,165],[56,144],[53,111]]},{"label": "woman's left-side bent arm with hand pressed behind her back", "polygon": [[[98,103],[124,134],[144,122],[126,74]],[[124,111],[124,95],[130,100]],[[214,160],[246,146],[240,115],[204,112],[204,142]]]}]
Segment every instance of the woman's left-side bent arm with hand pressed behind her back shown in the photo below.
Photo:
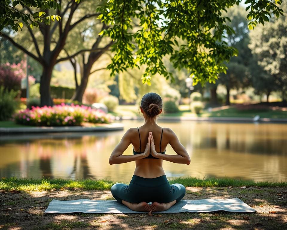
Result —
[{"label": "woman's left-side bent arm with hand pressed behind her back", "polygon": [[[145,149],[144,153],[136,154],[136,155],[122,155],[123,152],[127,149],[127,147],[131,143],[131,139],[134,137],[132,129],[129,129],[126,131],[126,133],[123,135],[122,139],[120,140],[120,143],[117,144],[115,149],[113,150],[110,158],[109,158],[109,164],[122,164],[130,161],[136,161],[143,159],[149,155],[149,147]],[[150,145],[150,143],[147,143],[147,146]]]}]

